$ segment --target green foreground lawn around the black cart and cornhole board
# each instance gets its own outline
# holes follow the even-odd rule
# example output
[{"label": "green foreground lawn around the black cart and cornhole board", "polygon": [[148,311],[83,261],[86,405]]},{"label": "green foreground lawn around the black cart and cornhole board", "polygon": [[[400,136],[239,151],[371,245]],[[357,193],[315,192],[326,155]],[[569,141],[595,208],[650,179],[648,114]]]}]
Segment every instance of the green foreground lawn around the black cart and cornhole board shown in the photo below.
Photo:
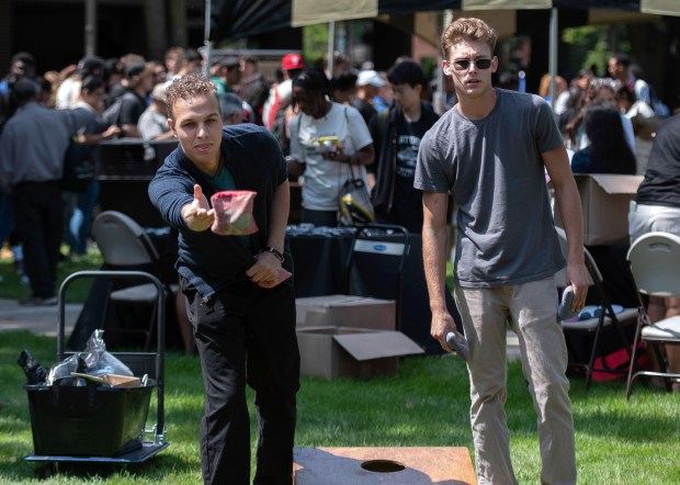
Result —
[{"label": "green foreground lawn around the black cart and cornhole board", "polygon": [[[199,359],[170,352],[166,422],[170,447],[140,465],[60,464],[41,480],[33,453],[24,376],[15,363],[29,349],[55,363],[56,340],[26,331],[0,334],[0,483],[200,483],[199,422],[203,386]],[[540,483],[535,414],[519,363],[511,363],[507,404],[512,459],[520,483]],[[625,402],[622,382],[571,382],[579,482],[583,484],[680,483],[680,394],[636,383]],[[250,394],[250,399],[252,395]],[[152,397],[152,404],[155,397]],[[298,394],[297,447],[467,447],[472,453],[468,382],[453,357],[400,361],[394,377],[351,381],[304,377]],[[148,426],[155,422],[152,410]],[[252,416],[252,442],[256,421]],[[93,430],[92,439],[97,439]],[[253,448],[254,450],[254,448]],[[321,484],[322,485],[322,484]]]}]

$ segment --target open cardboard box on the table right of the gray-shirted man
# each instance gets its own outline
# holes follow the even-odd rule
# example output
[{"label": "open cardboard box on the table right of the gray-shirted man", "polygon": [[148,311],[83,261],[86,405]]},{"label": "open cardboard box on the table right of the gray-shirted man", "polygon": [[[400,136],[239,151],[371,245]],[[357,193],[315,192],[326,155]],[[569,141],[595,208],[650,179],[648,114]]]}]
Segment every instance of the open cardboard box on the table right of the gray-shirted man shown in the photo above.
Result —
[{"label": "open cardboard box on the table right of the gray-shirted man", "polygon": [[[627,244],[628,207],[644,177],[575,173],[574,179],[583,211],[583,244],[586,246]],[[557,201],[555,201],[555,225],[564,227]]]}]

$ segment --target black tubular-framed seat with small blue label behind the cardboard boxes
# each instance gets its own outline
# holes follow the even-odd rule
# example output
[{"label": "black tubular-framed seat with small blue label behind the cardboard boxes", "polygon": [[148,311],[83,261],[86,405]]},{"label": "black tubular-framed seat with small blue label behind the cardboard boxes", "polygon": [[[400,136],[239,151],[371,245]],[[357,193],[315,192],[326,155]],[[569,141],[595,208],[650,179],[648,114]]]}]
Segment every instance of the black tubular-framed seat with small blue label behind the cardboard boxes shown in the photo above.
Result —
[{"label": "black tubular-framed seat with small blue label behind the cardboard boxes", "polygon": [[408,229],[366,224],[352,238],[344,271],[344,293],[395,301],[395,329],[401,328],[401,282],[409,251]]}]

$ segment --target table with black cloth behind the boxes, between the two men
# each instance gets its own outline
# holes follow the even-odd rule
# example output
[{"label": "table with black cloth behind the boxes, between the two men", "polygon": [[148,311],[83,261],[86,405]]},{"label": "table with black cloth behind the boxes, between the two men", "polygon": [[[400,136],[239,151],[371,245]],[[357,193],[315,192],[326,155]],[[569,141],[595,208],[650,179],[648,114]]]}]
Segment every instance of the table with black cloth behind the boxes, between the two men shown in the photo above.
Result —
[{"label": "table with black cloth behind the boxes, between the two men", "polygon": [[[295,291],[298,297],[344,294],[344,272],[350,252],[353,228],[308,227],[292,225],[286,230],[295,264]],[[430,336],[432,314],[422,263],[422,238],[420,234],[409,234],[410,251],[403,271],[401,286],[401,328],[411,340],[427,353],[440,354],[441,346]],[[374,271],[361,271],[359,278],[379,280]],[[385,281],[385,285],[389,283]],[[392,298],[386,295],[362,295]],[[461,316],[451,292],[446,292],[446,307],[462,331]]]}]

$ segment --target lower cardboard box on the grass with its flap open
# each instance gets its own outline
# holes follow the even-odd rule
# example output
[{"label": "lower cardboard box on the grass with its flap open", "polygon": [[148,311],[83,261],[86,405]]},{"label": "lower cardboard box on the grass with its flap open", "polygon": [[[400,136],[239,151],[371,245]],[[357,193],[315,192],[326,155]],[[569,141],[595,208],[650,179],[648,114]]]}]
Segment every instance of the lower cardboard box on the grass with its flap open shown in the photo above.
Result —
[{"label": "lower cardboard box on the grass with its flap open", "polygon": [[347,327],[297,330],[301,374],[326,379],[395,375],[401,356],[424,353],[400,331]]}]

